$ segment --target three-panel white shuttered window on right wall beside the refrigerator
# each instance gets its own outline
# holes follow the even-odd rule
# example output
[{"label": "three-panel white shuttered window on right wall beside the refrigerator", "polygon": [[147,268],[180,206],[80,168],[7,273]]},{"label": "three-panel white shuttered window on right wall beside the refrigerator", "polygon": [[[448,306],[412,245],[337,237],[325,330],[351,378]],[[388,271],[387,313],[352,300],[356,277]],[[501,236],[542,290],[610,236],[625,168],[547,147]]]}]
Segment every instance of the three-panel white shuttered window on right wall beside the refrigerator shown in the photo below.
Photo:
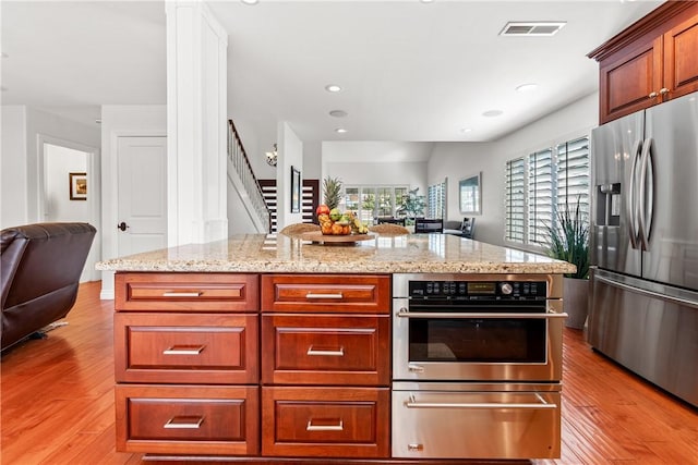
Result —
[{"label": "three-panel white shuttered window on right wall beside the refrigerator", "polygon": [[579,199],[589,212],[589,137],[545,148],[506,163],[505,238],[547,245],[557,211]]}]

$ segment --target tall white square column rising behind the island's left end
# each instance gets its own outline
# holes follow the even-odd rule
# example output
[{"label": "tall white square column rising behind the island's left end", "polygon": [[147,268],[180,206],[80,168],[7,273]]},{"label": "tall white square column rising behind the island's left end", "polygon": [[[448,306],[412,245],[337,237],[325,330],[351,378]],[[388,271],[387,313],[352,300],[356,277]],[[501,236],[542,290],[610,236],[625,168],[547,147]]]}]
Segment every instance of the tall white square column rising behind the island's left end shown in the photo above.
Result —
[{"label": "tall white square column rising behind the island's left end", "polygon": [[228,236],[228,34],[202,0],[168,1],[168,245]]}]

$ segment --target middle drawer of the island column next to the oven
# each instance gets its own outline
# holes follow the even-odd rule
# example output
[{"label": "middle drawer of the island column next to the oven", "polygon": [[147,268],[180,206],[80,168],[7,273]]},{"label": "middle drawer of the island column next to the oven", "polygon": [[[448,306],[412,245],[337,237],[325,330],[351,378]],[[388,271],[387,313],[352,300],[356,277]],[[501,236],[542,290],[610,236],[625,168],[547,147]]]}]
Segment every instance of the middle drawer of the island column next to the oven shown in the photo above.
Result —
[{"label": "middle drawer of the island column next to the oven", "polygon": [[390,317],[263,315],[265,384],[388,386]]}]

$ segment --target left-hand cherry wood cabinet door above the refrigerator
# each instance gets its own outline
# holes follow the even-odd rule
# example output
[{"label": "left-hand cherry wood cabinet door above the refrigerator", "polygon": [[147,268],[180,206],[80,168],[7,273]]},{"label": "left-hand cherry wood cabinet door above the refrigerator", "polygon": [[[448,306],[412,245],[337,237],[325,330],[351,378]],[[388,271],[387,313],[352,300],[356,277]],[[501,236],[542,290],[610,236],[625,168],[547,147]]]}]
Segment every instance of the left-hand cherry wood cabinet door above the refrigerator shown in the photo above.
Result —
[{"label": "left-hand cherry wood cabinet door above the refrigerator", "polygon": [[600,69],[601,123],[659,103],[662,65],[662,37],[604,60]]}]

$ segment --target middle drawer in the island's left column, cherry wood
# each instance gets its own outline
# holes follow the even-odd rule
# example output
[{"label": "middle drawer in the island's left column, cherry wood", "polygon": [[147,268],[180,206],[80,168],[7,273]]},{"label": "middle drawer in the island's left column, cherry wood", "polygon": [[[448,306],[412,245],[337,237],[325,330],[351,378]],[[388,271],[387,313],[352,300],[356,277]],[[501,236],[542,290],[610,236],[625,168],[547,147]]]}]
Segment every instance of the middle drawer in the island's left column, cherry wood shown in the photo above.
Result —
[{"label": "middle drawer in the island's left column, cherry wood", "polygon": [[117,382],[251,384],[258,315],[115,314]]}]

